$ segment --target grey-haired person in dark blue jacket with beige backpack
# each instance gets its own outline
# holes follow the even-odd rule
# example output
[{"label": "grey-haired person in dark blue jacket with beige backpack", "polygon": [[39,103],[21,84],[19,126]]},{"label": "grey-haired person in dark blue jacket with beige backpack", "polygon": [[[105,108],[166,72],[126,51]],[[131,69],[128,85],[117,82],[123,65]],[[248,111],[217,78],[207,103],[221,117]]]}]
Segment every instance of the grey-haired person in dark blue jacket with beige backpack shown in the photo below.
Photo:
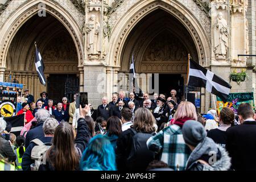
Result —
[{"label": "grey-haired person in dark blue jacket with beige backpack", "polygon": [[[43,143],[50,144],[54,136],[56,127],[59,125],[59,122],[54,118],[48,118],[43,123],[44,137],[40,138]],[[33,140],[30,142],[30,145],[27,147],[25,153],[22,157],[22,169],[23,171],[31,171],[30,165],[35,161],[31,159],[31,152],[33,147],[36,146],[36,143]]]}]

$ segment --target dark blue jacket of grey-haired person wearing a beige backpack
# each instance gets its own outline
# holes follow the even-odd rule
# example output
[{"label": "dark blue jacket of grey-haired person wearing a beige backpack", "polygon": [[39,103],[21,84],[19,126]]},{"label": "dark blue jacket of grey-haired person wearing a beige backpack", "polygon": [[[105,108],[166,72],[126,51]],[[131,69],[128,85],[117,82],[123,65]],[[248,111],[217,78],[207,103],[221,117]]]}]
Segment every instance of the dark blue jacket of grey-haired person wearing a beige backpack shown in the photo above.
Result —
[{"label": "dark blue jacket of grey-haired person wearing a beige backpack", "polygon": [[[43,143],[52,143],[52,138],[53,137],[42,137],[40,138],[40,140]],[[31,142],[29,144],[29,146],[27,147],[25,153],[22,156],[22,169],[23,171],[31,171],[30,168],[30,164],[34,163],[35,160],[31,159],[31,152],[32,152],[32,148],[35,146],[36,144],[34,142]]]}]

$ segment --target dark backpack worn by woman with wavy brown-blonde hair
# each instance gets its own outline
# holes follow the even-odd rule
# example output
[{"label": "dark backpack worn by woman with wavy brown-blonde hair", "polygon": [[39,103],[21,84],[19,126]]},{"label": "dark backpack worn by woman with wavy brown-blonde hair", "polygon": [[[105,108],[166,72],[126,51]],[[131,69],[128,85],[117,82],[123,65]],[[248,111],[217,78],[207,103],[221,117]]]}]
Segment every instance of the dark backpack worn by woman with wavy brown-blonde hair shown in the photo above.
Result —
[{"label": "dark backpack worn by woman with wavy brown-blonde hair", "polygon": [[133,128],[130,128],[130,130],[133,131],[134,136],[130,154],[127,158],[127,167],[130,170],[134,170],[135,168],[146,170],[148,163],[155,159],[155,152],[147,148],[148,138],[155,135],[155,133],[141,133]]}]

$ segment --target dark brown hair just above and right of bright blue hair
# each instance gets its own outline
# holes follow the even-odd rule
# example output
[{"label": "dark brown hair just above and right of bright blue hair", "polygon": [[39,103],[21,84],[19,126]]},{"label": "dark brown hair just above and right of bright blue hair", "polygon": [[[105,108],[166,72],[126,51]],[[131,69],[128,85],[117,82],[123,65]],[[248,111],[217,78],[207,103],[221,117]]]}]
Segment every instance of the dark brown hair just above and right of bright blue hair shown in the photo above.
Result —
[{"label": "dark brown hair just above and right of bright blue hair", "polygon": [[122,124],[118,117],[112,116],[107,121],[108,135],[119,135],[122,132]]}]

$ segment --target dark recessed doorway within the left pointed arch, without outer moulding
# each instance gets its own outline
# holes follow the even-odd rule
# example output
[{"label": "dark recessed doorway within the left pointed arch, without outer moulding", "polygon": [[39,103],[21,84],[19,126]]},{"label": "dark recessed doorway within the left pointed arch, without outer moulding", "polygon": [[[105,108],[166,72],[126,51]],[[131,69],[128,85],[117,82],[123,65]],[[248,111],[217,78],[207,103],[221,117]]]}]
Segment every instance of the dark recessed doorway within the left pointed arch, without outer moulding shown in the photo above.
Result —
[{"label": "dark recessed doorway within the left pointed arch, without outer moulding", "polygon": [[[34,42],[37,43],[44,61],[46,86],[40,84],[36,73]],[[16,80],[24,84],[24,88],[28,88],[30,93],[34,94],[35,100],[40,97],[42,91],[47,91],[49,98],[59,102],[62,97],[70,95],[65,90],[65,84],[70,82],[70,78],[74,79],[73,82],[79,83],[77,55],[72,36],[55,16],[50,13],[43,17],[35,14],[19,28],[10,43],[5,77],[7,78],[11,73]],[[58,79],[53,79],[54,77]],[[67,77],[69,80],[66,79]],[[49,85],[58,86],[59,90],[51,89]],[[76,86],[74,93],[79,91],[79,84]]]}]

